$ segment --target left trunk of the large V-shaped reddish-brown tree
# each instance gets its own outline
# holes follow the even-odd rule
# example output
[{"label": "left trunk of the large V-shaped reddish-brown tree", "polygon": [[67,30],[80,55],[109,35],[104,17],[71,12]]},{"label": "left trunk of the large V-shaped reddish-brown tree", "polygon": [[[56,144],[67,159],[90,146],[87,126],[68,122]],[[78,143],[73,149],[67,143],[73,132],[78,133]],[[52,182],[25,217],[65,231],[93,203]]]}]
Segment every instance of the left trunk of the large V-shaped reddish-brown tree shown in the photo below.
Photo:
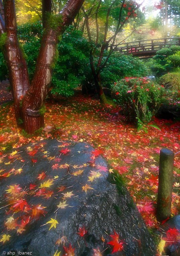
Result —
[{"label": "left trunk of the large V-shaped reddish-brown tree", "polygon": [[20,101],[29,87],[28,69],[23,52],[19,49],[15,5],[13,0],[4,1],[6,43],[4,57],[6,59],[9,82],[14,99],[15,117],[18,127],[22,127],[22,111]]}]

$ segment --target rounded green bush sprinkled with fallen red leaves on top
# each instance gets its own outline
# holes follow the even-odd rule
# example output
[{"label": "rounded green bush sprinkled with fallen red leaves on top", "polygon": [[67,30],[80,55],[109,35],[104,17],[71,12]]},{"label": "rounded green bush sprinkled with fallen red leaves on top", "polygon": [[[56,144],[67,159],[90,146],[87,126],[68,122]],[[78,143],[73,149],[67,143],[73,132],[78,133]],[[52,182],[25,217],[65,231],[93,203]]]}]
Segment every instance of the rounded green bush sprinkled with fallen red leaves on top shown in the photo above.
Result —
[{"label": "rounded green bush sprinkled with fallen red leaves on top", "polygon": [[146,124],[156,114],[163,87],[147,78],[126,77],[112,86],[112,96],[121,113],[132,123]]}]

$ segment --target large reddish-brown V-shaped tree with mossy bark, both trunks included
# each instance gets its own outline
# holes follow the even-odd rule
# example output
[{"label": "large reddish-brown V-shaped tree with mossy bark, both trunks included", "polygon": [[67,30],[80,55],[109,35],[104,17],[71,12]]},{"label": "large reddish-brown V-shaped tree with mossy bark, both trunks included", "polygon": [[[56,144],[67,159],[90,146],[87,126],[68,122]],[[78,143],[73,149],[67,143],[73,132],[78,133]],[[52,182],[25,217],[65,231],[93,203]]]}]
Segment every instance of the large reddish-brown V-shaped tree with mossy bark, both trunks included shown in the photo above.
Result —
[{"label": "large reddish-brown V-shaped tree with mossy bark, both trunks included", "polygon": [[[46,1],[46,4],[49,2]],[[28,133],[33,133],[44,126],[43,105],[51,82],[58,36],[73,21],[82,3],[83,0],[69,0],[59,14],[50,14],[47,18],[35,75],[30,86],[25,56],[17,38],[14,0],[4,1],[4,6],[0,0],[0,44],[8,67],[16,122]]]}]

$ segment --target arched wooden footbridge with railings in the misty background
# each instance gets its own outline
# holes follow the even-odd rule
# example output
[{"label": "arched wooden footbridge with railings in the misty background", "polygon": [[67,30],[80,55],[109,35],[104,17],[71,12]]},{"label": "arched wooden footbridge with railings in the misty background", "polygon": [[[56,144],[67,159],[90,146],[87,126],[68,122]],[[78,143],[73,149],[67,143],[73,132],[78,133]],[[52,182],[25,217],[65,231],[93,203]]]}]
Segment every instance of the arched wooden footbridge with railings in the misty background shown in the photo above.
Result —
[{"label": "arched wooden footbridge with railings in the misty background", "polygon": [[141,59],[152,58],[156,55],[156,52],[162,48],[169,48],[172,45],[180,46],[180,37],[167,37],[152,40],[141,40],[128,43],[121,43],[116,45],[110,45],[108,48],[119,51],[120,53],[130,55]]}]

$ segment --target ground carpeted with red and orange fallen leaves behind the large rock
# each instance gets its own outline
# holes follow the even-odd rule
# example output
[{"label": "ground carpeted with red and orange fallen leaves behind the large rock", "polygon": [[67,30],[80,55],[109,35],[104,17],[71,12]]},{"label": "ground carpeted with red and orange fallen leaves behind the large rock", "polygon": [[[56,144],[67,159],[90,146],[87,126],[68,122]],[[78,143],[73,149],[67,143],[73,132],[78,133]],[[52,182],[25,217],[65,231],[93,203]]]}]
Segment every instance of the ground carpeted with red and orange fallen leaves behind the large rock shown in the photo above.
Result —
[{"label": "ground carpeted with red and orange fallen leaves behind the large rock", "polygon": [[[1,84],[2,85],[2,84]],[[12,99],[0,89],[0,102]],[[2,97],[1,97],[2,96]],[[156,201],[158,190],[160,149],[180,151],[180,122],[153,118],[148,133],[125,122],[119,108],[101,105],[92,97],[80,93],[58,103],[46,102],[45,125],[56,127],[51,132],[39,131],[27,135],[17,129],[13,103],[0,106],[0,162],[6,152],[42,139],[84,141],[92,145],[110,164],[110,172],[117,170],[124,178],[139,212],[148,227],[157,227]],[[34,159],[36,155],[34,156]],[[35,164],[37,164],[35,162]],[[92,165],[93,166],[93,165]],[[108,171],[103,170],[102,171]],[[3,172],[0,176],[3,178]],[[180,212],[180,156],[175,157],[172,215]]]}]

